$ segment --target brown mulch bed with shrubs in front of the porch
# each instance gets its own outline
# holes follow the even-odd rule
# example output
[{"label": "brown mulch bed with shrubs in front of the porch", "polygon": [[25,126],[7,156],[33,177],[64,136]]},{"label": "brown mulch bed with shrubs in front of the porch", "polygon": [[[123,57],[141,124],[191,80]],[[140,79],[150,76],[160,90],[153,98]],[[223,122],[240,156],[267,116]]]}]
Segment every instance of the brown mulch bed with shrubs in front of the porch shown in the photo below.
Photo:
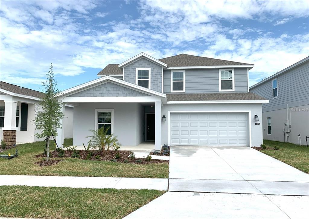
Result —
[{"label": "brown mulch bed with shrubs in front of the porch", "polygon": [[[91,157],[87,157],[88,153],[92,152]],[[78,159],[83,160],[104,160],[104,161],[112,161],[118,163],[134,163],[134,164],[158,164],[158,163],[169,163],[169,160],[146,160],[145,158],[129,158],[129,151],[118,151],[120,158],[116,159],[116,151],[111,150],[108,153],[99,151],[99,150],[76,150],[75,153],[79,154]],[[74,151],[72,150],[64,150],[64,156],[62,157],[72,157]],[[58,150],[51,151],[50,158],[59,157]],[[36,157],[43,157],[43,154],[36,155]],[[87,159],[88,158],[88,159]],[[40,162],[39,162],[40,163]]]}]

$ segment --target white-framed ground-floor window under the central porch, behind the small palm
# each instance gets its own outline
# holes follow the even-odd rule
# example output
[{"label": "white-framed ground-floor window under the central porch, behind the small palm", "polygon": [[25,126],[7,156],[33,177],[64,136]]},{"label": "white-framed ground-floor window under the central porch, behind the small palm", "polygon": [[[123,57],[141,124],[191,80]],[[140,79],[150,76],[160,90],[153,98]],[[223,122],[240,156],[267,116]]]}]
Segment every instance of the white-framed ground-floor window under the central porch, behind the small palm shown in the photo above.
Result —
[{"label": "white-framed ground-floor window under the central porch, behind the small palm", "polygon": [[108,128],[108,135],[113,133],[113,110],[96,109],[96,129]]}]

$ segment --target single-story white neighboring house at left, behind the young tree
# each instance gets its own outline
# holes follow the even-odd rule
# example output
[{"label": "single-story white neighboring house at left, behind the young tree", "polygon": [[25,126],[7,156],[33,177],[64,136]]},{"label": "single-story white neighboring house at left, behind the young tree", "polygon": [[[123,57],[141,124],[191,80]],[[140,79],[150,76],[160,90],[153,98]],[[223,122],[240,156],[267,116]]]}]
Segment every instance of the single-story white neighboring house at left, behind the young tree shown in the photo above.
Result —
[{"label": "single-story white neighboring house at left, behind the young tree", "polygon": [[[25,87],[6,82],[0,82],[0,136],[7,144],[35,142],[34,118],[35,107],[42,95]],[[65,138],[73,137],[73,107],[66,105],[63,126],[66,129]],[[4,137],[4,136],[12,136]],[[15,139],[15,140],[14,140]]]}]

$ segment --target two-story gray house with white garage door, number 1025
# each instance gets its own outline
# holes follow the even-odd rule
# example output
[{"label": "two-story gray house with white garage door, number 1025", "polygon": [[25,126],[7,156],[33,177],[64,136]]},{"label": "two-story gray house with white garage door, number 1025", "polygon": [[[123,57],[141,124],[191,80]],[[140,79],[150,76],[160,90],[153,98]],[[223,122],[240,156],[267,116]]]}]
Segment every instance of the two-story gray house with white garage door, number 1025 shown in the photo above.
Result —
[{"label": "two-story gray house with white garage door, number 1025", "polygon": [[[252,64],[140,53],[109,64],[99,79],[63,91],[74,105],[73,145],[87,145],[90,129],[108,127],[124,146],[260,146],[263,97],[249,93]],[[259,121],[261,122],[261,121]],[[57,141],[63,142],[63,129]]]}]

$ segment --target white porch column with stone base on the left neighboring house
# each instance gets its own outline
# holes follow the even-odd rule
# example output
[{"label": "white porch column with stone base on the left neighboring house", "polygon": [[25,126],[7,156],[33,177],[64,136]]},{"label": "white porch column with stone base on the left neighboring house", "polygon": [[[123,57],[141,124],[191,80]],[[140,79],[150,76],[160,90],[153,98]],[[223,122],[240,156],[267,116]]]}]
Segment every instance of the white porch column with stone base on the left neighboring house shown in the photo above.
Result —
[{"label": "white porch column with stone base on the left neighboring house", "polygon": [[4,102],[3,140],[7,145],[16,144],[16,106],[17,101]]}]

